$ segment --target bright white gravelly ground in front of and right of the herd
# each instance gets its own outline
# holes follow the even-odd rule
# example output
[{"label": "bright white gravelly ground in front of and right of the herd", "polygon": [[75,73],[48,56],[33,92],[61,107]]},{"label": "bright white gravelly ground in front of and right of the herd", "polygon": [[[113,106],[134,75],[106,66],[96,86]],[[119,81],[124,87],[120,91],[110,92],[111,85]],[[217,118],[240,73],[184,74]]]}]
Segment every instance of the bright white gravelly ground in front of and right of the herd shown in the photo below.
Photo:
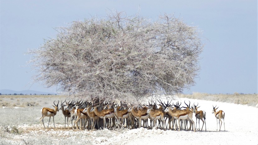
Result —
[{"label": "bright white gravelly ground in front of and right of the herd", "polygon": [[[25,144],[22,139],[29,136],[45,135],[46,137],[56,136],[54,143],[44,144],[63,144],[58,137],[67,137],[71,140],[78,139],[78,136],[85,138],[84,140],[75,141],[76,144],[245,144],[257,145],[258,144],[258,108],[236,105],[231,103],[203,101],[181,98],[179,101],[185,105],[183,101],[198,102],[199,110],[206,112],[206,127],[207,131],[173,131],[173,130],[160,130],[160,129],[123,129],[120,131],[114,130],[97,130],[97,131],[76,131],[76,130],[62,130],[54,129],[53,124],[50,123],[50,129],[42,129],[40,124],[34,125],[19,125],[18,128],[24,129],[23,134],[14,135],[10,138],[9,144]],[[181,105],[181,106],[182,106]],[[219,106],[218,110],[225,112],[225,129],[222,124],[221,130],[216,131],[216,119],[212,114],[212,105]],[[60,112],[58,112],[60,113]],[[194,115],[193,115],[194,116]],[[195,123],[196,118],[193,117]],[[48,122],[45,119],[45,124]],[[52,120],[51,120],[52,121]],[[198,121],[198,120],[197,120]],[[202,122],[200,121],[200,125]],[[56,124],[57,128],[64,127],[63,124]],[[197,124],[197,129],[198,129]],[[26,130],[28,130],[26,132]],[[204,129],[205,130],[205,126]],[[102,133],[102,134],[101,134]],[[80,138],[80,137],[79,137]]]}]

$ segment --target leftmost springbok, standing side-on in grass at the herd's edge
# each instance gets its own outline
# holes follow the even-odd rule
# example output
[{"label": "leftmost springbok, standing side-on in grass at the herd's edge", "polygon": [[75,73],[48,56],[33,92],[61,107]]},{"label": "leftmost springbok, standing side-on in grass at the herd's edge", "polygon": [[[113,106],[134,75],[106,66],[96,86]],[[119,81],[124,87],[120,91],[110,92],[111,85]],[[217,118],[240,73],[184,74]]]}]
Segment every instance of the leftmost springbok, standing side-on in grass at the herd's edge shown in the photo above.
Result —
[{"label": "leftmost springbok, standing side-on in grass at the herd's edge", "polygon": [[[59,100],[58,100],[58,103],[59,103]],[[54,120],[54,116],[57,114],[57,111],[58,110],[58,103],[57,105],[55,104],[55,101],[54,101],[54,105],[52,105],[53,107],[55,107],[55,109],[50,109],[50,108],[42,108],[40,111],[41,111],[41,114],[42,114],[42,117],[39,119],[39,121],[42,120],[43,122],[43,125],[44,125],[44,117],[49,117],[49,121],[48,121],[48,125],[49,125],[49,122],[50,122],[50,118],[51,116],[53,116],[53,122],[54,122],[54,127],[56,128],[55,126],[55,120]],[[44,125],[44,128],[46,129],[45,125]]]}]

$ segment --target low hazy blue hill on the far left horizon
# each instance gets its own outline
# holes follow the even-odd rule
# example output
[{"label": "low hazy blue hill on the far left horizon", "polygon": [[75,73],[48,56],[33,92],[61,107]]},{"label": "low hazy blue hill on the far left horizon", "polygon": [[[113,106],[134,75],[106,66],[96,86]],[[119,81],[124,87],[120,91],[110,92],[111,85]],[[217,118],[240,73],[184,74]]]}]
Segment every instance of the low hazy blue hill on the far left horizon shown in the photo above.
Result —
[{"label": "low hazy blue hill on the far left horizon", "polygon": [[17,94],[17,95],[19,95],[19,94],[23,94],[23,95],[48,95],[48,94],[50,94],[50,95],[55,95],[55,94],[57,94],[57,93],[50,93],[50,92],[41,92],[41,91],[33,91],[33,90],[23,90],[23,91],[13,91],[13,90],[8,90],[8,89],[2,89],[2,90],[0,90],[0,93],[2,94],[2,95],[4,95],[4,94],[7,94],[7,95],[9,95],[9,94]]}]

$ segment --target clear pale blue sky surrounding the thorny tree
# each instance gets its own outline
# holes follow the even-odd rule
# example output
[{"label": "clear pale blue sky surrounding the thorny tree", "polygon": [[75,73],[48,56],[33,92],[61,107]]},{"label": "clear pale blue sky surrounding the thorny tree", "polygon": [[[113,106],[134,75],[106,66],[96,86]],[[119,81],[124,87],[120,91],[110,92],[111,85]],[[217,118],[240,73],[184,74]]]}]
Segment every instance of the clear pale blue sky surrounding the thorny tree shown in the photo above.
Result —
[{"label": "clear pale blue sky surrounding the thorny tree", "polygon": [[[203,30],[205,44],[201,71],[192,92],[257,93],[257,1],[256,0],[1,0],[0,89],[54,92],[31,84],[35,75],[26,65],[27,49],[35,49],[44,39],[55,37],[53,28],[104,16],[106,10],[137,13],[157,19],[168,13]],[[194,24],[191,24],[194,23]]]}]

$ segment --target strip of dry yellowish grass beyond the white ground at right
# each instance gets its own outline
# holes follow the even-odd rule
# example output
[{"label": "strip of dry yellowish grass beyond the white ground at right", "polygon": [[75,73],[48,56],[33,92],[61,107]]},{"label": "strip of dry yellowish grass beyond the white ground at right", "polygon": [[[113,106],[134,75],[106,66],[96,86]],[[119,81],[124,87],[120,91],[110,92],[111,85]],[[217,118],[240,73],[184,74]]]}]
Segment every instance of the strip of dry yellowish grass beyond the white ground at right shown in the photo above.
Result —
[{"label": "strip of dry yellowish grass beyond the white ground at right", "polygon": [[227,102],[248,106],[256,106],[256,104],[258,104],[258,94],[239,94],[237,92],[235,92],[234,94],[208,94],[195,92],[191,95],[181,94],[179,95],[179,97],[207,101]]}]

